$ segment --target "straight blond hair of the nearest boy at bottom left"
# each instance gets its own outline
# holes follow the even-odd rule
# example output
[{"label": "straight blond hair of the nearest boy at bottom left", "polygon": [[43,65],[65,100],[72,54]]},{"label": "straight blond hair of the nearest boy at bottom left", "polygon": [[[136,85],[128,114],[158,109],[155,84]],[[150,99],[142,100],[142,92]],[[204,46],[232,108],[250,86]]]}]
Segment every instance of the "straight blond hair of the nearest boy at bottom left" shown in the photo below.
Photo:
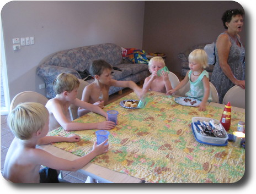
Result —
[{"label": "straight blond hair of the nearest boy at bottom left", "polygon": [[15,137],[29,140],[34,132],[42,130],[49,120],[49,112],[37,102],[18,104],[8,115],[8,126]]}]

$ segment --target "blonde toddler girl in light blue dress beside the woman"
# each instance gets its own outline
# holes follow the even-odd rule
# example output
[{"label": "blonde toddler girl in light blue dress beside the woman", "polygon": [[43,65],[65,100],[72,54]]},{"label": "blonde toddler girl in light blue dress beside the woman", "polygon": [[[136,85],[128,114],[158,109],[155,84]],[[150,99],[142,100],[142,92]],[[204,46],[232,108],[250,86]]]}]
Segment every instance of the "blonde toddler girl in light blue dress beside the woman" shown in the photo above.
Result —
[{"label": "blonde toddler girl in light blue dress beside the woman", "polygon": [[206,110],[206,103],[212,101],[210,93],[209,73],[204,70],[207,66],[207,53],[203,49],[195,49],[189,54],[189,68],[184,79],[173,89],[167,92],[170,95],[186,85],[189,81],[190,90],[186,96],[201,101],[198,105],[200,111]]}]

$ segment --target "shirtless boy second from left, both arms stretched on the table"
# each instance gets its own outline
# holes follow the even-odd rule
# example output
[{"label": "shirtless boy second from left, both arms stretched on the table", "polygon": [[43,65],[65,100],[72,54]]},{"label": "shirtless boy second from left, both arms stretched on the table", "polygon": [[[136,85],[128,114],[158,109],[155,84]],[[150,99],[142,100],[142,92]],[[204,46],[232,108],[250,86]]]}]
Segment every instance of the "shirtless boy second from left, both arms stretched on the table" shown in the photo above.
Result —
[{"label": "shirtless boy second from left, both arms stretched on the table", "polygon": [[77,77],[72,74],[61,73],[55,79],[53,85],[57,95],[45,105],[50,113],[50,130],[56,129],[58,126],[62,126],[67,131],[86,129],[110,130],[115,128],[115,123],[112,121],[99,123],[76,123],[71,121],[68,110],[71,104],[86,108],[94,113],[103,115],[106,120],[108,119],[108,115],[103,109],[77,98],[79,84],[80,82]]}]

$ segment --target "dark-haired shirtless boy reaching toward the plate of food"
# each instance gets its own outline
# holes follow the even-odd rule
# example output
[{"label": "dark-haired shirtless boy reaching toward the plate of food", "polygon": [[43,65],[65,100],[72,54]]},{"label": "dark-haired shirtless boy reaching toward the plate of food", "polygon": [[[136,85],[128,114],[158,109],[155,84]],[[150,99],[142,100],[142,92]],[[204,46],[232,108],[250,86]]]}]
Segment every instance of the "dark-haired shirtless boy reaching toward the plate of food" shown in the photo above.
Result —
[{"label": "dark-haired shirtless boy reaching toward the plate of food", "polygon": [[[90,75],[94,76],[94,82],[86,86],[83,90],[82,101],[104,108],[108,104],[109,87],[129,87],[135,91],[138,98],[143,96],[143,91],[133,81],[118,81],[111,77],[112,66],[105,60],[94,60],[90,65]],[[102,94],[102,95],[101,95]],[[99,98],[102,96],[102,98]],[[87,109],[78,108],[78,116],[88,113]]]}]

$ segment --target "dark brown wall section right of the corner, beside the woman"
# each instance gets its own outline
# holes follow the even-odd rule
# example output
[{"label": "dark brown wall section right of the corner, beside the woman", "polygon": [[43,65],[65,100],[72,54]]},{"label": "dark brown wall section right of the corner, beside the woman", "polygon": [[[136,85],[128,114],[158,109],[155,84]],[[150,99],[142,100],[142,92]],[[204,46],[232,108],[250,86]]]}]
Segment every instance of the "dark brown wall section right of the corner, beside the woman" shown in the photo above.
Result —
[{"label": "dark brown wall section right of the corner, beside the woman", "polygon": [[[234,8],[242,7],[234,1],[146,1],[143,49],[166,53],[169,70],[180,72],[178,53],[199,43],[215,42],[225,30],[222,14]],[[241,39],[245,44],[245,30]]]}]

